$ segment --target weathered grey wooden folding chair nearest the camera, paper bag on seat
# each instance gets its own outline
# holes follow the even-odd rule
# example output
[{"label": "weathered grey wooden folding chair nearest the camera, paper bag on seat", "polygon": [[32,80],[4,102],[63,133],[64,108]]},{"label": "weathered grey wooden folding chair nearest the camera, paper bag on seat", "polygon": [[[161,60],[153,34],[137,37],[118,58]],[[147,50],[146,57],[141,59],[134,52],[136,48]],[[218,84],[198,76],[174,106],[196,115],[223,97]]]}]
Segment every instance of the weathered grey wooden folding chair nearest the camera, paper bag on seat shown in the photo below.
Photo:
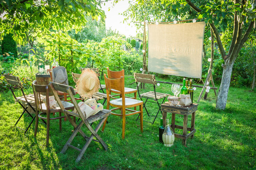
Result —
[{"label": "weathered grey wooden folding chair nearest the camera, paper bag on seat", "polygon": [[[103,124],[103,122],[107,119],[107,117],[110,115],[111,111],[110,110],[106,110],[103,109],[103,111],[98,112],[96,115],[90,116],[90,117],[86,117],[86,115],[84,115],[74,96],[75,95],[75,90],[73,87],[71,86],[67,86],[67,85],[63,85],[63,84],[58,84],[58,83],[54,83],[54,82],[50,82],[50,87],[53,91],[54,97],[57,100],[57,103],[59,104],[62,112],[65,114],[65,116],[67,117],[67,119],[69,120],[69,122],[74,126],[75,130],[72,133],[71,137],[69,138],[69,140],[67,141],[67,143],[64,145],[63,149],[61,150],[60,153],[65,153],[66,150],[68,149],[68,147],[71,147],[73,149],[78,150],[80,153],[76,159],[76,162],[79,162],[81,160],[81,157],[84,155],[86,149],[88,148],[89,144],[91,143],[91,141],[95,141],[95,142],[99,142],[105,150],[108,149],[108,146],[106,145],[106,143],[99,137],[99,135],[97,134],[97,131],[99,130],[100,126]],[[57,91],[61,91],[63,93],[68,93],[71,101],[74,103],[75,109],[77,111],[77,113],[74,112],[70,112],[67,111],[65,109],[65,107],[63,106],[63,104],[61,103],[61,100],[58,97]],[[75,121],[73,119],[71,119],[71,116],[76,116],[78,118],[81,119],[81,121],[79,122],[78,125],[76,125]],[[95,122],[97,120],[102,119],[99,124],[97,125],[97,127],[95,129],[93,129],[90,125],[90,123]],[[85,126],[89,129],[89,131],[92,133],[90,137],[87,137],[85,135],[85,133],[81,130],[81,127],[85,124]],[[73,141],[73,139],[75,138],[77,133],[80,133],[84,139],[86,140],[86,144],[84,145],[83,149],[79,149],[73,145],[71,145],[71,142]],[[93,138],[96,137],[97,140],[94,140]]]}]

